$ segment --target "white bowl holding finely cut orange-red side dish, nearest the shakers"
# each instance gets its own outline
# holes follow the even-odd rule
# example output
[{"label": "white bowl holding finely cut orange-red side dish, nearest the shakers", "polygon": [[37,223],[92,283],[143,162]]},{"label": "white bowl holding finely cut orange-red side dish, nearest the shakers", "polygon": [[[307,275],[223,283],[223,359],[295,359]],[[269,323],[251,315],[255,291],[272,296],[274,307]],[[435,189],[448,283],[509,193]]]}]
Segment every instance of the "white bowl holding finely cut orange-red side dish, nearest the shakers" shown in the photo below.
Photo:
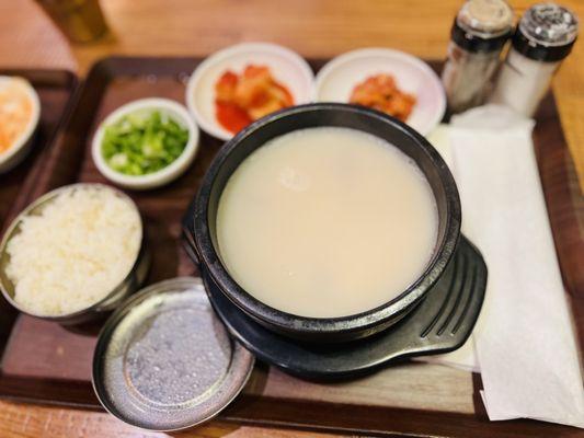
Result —
[{"label": "white bowl holding finely cut orange-red side dish, nearest the shakers", "polygon": [[436,73],[423,60],[389,48],[364,48],[341,55],[317,74],[317,102],[347,103],[354,87],[370,76],[389,73],[416,103],[405,120],[422,135],[430,134],[446,111],[446,96]]}]

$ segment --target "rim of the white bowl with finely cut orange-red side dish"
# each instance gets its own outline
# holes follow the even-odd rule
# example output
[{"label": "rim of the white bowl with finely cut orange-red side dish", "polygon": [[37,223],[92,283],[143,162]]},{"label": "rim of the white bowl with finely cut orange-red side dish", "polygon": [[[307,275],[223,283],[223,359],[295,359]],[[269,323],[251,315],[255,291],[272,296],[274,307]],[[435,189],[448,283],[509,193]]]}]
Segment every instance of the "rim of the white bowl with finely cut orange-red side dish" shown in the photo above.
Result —
[{"label": "rim of the white bowl with finely cut orange-red side dish", "polygon": [[[423,72],[425,72],[430,78],[433,78],[435,84],[437,85],[437,89],[440,91],[440,100],[438,102],[438,108],[435,112],[435,115],[433,118],[430,118],[427,122],[427,125],[425,129],[419,130],[422,135],[427,135],[434,129],[442,118],[444,117],[444,113],[446,112],[446,94],[444,92],[444,88],[442,87],[440,79],[436,74],[434,70],[421,58],[408,54],[405,51],[397,50],[389,47],[365,47],[365,48],[358,48],[355,50],[351,50],[347,53],[344,53],[342,55],[339,55],[331,59],[329,62],[327,62],[322,68],[317,72],[317,77],[314,80],[314,100],[317,102],[324,102],[321,101],[319,95],[322,89],[323,82],[328,79],[328,77],[331,74],[333,70],[339,68],[345,62],[353,61],[355,59],[359,59],[363,57],[370,57],[370,56],[386,56],[386,57],[392,57],[394,59],[399,59],[401,61],[404,61],[406,64],[413,65]],[[408,122],[405,122],[408,123]],[[415,128],[414,128],[415,129]]]}]

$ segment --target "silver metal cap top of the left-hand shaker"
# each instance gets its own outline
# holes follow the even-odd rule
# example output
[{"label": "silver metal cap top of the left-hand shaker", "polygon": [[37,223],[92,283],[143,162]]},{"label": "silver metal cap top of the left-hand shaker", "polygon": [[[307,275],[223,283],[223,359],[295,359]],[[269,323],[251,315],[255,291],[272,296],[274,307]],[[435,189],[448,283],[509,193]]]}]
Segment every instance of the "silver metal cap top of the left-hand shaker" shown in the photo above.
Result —
[{"label": "silver metal cap top of the left-hand shaker", "polygon": [[488,39],[511,31],[513,10],[505,0],[468,0],[456,20],[466,32]]}]

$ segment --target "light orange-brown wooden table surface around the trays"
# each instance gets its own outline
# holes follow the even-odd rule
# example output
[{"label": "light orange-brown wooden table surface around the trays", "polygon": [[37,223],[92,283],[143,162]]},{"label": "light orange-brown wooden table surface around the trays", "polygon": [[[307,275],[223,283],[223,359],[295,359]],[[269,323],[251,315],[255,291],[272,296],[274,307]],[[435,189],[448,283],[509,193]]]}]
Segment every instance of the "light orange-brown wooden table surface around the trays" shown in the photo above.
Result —
[{"label": "light orange-brown wooden table surface around the trays", "polygon": [[[512,0],[517,13],[535,0]],[[102,0],[111,34],[70,45],[32,0],[0,0],[0,68],[66,68],[83,76],[111,54],[202,56],[244,41],[270,41],[307,57],[385,46],[443,58],[460,0]],[[562,0],[584,18],[584,1]],[[584,45],[553,81],[562,125],[584,191]],[[107,414],[0,402],[1,437],[158,437]],[[176,437],[325,437],[211,422]]]}]

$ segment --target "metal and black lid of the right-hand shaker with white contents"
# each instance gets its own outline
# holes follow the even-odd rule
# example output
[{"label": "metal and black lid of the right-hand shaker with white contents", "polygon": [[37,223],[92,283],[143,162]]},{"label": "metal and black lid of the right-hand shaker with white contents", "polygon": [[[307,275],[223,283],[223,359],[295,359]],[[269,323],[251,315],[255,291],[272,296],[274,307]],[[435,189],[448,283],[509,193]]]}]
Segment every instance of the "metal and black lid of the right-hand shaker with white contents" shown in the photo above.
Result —
[{"label": "metal and black lid of the right-hand shaker with white contents", "polygon": [[513,47],[531,59],[554,61],[565,58],[577,37],[577,16],[556,3],[529,8],[519,21]]}]

